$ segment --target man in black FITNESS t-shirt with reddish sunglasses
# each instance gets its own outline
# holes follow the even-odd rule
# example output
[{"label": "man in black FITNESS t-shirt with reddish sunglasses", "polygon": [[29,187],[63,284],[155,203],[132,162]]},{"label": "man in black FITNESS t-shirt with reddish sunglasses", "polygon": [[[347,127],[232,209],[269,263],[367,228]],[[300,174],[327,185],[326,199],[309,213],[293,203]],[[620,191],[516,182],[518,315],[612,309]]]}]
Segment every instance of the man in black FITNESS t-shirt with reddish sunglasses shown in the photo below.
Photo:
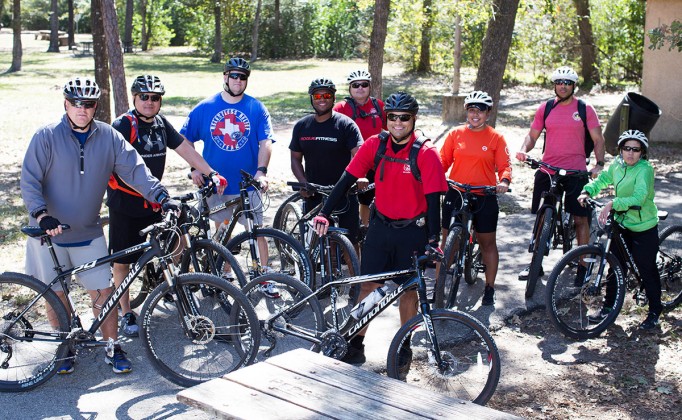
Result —
[{"label": "man in black FITNESS t-shirt with reddish sunglasses", "polygon": [[[289,144],[291,171],[299,182],[334,185],[362,145],[362,134],[352,119],[332,111],[336,86],[331,80],[313,80],[308,94],[315,113],[301,118],[294,126]],[[305,210],[312,209],[322,200],[305,191],[301,191],[301,195],[305,197]],[[348,229],[348,237],[355,244],[360,230],[357,197],[350,196],[343,201],[338,209],[347,210],[338,215],[339,225]]]}]

